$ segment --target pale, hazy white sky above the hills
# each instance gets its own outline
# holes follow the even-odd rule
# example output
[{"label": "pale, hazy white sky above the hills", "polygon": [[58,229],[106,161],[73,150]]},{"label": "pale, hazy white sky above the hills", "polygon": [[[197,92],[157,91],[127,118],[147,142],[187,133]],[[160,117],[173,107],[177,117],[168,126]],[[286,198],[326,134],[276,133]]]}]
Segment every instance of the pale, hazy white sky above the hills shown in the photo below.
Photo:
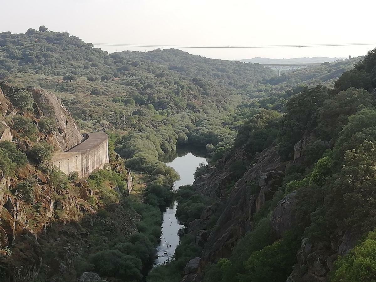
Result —
[{"label": "pale, hazy white sky above the hills", "polygon": [[[44,25],[85,42],[143,45],[302,45],[376,42],[374,0],[0,0],[0,32]],[[95,45],[110,53],[148,47]],[[192,49],[216,59],[352,57],[374,45]]]}]

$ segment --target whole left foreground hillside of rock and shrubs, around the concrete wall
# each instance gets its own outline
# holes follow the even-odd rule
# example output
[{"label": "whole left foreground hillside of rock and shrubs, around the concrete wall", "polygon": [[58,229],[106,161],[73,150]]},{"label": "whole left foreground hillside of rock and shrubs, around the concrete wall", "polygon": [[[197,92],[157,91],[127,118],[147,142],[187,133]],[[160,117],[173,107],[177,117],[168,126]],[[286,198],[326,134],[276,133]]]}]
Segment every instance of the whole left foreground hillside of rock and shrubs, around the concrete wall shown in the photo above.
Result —
[{"label": "whole left foreground hillside of rock and shrubs, around the concrete wall", "polygon": [[[111,139],[111,165],[86,179],[64,174],[51,165],[53,153],[79,148],[83,136],[56,96],[1,81],[0,103],[0,280],[85,280],[95,274],[90,271],[112,281],[141,280],[154,260],[161,235],[158,201],[171,197],[169,187],[131,174]],[[145,186],[155,189],[144,196],[156,203],[129,194]],[[107,266],[99,264],[103,257]]]}]

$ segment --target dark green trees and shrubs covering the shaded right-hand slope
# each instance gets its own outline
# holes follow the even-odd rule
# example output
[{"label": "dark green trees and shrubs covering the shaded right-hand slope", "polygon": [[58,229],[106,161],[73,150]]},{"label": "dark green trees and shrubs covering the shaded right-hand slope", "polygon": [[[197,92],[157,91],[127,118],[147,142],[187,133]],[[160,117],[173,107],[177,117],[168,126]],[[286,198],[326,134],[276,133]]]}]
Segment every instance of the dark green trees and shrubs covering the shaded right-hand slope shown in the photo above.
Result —
[{"label": "dark green trees and shrubs covering the shaded right-hand slope", "polygon": [[[285,115],[259,111],[239,129],[230,150],[246,150],[250,160],[273,142],[281,158],[291,160],[294,145],[302,136],[307,140],[305,157],[286,171],[283,184],[253,216],[256,226],[238,241],[232,255],[205,268],[204,281],[285,281],[297,263],[296,253],[303,238],[312,245],[319,244],[329,256],[334,252],[329,250],[340,244],[345,231],[355,238],[370,233],[338,259],[331,279],[374,279],[375,58],[376,50],[369,52],[354,70],[345,72],[335,82],[334,88],[318,85],[301,89],[287,102]],[[196,174],[203,173],[205,168],[199,168]],[[276,241],[270,213],[280,199],[293,191],[295,225]],[[177,215],[184,222],[200,218],[201,212],[196,213],[195,208],[202,210],[213,202],[186,187],[182,187],[181,193],[184,196],[178,199]],[[179,247],[186,246],[189,236],[183,236]],[[200,249],[186,252],[189,258],[199,253]],[[177,253],[176,261],[152,271],[149,281],[163,281],[164,276],[170,277],[168,281],[179,281],[184,267],[178,265],[181,258]],[[299,265],[295,267],[298,269]],[[300,271],[304,273],[305,269]]]}]

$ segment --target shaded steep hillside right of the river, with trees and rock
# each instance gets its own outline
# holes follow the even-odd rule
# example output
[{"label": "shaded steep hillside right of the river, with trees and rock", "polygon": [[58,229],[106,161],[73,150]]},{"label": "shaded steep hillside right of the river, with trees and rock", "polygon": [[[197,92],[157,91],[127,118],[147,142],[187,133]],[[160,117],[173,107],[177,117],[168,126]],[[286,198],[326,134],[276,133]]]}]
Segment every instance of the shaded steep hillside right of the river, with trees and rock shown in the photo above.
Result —
[{"label": "shaded steep hillside right of the river, with trees and rock", "polygon": [[148,281],[372,281],[375,58],[260,111],[200,167],[178,192],[183,251]]}]

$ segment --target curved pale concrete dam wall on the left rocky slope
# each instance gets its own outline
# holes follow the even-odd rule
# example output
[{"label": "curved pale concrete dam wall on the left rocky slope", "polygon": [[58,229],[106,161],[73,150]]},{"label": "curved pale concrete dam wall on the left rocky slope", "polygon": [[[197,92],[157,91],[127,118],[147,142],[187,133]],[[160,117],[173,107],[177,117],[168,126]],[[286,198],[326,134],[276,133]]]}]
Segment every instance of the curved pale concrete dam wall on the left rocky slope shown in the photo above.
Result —
[{"label": "curved pale concrete dam wall on the left rocky slope", "polygon": [[55,153],[50,163],[70,175],[77,171],[78,177],[88,177],[93,171],[109,164],[108,136],[104,132],[83,134],[81,143],[62,153]]}]

